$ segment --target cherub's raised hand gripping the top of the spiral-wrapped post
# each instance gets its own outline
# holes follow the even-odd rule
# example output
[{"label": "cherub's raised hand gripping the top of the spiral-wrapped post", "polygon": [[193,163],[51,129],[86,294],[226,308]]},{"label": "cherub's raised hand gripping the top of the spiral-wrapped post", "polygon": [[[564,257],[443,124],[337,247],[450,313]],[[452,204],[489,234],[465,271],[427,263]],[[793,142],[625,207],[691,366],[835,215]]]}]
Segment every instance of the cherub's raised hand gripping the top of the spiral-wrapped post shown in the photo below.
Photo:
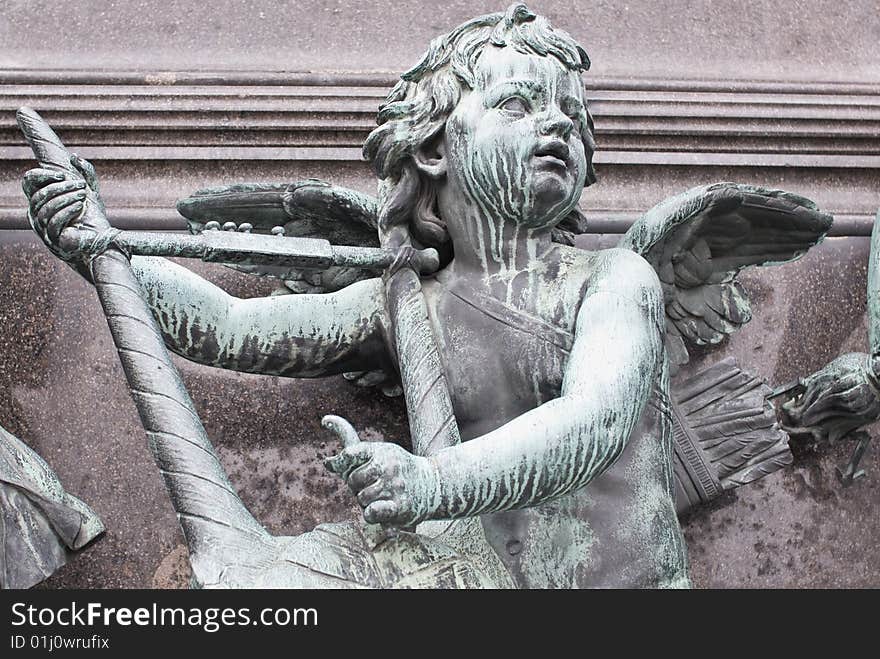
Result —
[{"label": "cherub's raised hand gripping the top of the spiral-wrapped post", "polygon": [[94,167],[76,155],[70,157],[70,163],[75,171],[30,170],[24,175],[22,189],[28,198],[28,218],[33,230],[53,254],[76,263],[83,255],[62,244],[61,232],[74,224],[96,232],[110,225],[104,216]]}]

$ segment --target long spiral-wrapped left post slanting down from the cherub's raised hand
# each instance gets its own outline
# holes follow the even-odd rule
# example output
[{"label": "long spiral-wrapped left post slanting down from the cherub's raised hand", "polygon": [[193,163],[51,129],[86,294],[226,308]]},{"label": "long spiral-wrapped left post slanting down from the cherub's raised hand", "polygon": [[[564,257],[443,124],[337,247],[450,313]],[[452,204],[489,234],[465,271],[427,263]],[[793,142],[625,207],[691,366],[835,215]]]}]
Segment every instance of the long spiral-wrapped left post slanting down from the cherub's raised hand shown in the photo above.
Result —
[{"label": "long spiral-wrapped left post slanting down from the cherub's raised hand", "polygon": [[[43,167],[82,175],[71,154],[33,110],[18,125]],[[80,224],[110,231],[97,196],[87,192]],[[195,576],[211,582],[230,551],[253,551],[271,537],[245,508],[229,482],[192,399],[171,362],[127,256],[112,242],[90,261],[90,273],[116,344],[132,398],[146,430],[190,550]]]}]

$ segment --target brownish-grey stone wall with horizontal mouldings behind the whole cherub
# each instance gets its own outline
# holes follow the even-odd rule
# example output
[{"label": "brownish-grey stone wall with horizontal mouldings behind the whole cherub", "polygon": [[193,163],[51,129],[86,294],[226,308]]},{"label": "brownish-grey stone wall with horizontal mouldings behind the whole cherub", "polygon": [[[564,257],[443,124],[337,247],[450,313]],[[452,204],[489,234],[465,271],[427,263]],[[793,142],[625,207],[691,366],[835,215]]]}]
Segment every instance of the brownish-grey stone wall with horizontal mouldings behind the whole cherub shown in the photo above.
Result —
[{"label": "brownish-grey stone wall with horizontal mouldings behind the whole cherub", "polygon": [[[610,244],[688,187],[735,180],[808,196],[834,237],[801,261],[744,275],[755,319],[698,362],[734,355],[771,384],[864,350],[865,274],[880,206],[876,1],[567,2],[532,8],[577,37],[596,119],[600,182],[582,206]],[[395,75],[486,2],[7,0],[0,9],[0,423],[101,515],[106,536],[46,587],[180,587],[185,552],[94,291],[25,230],[14,126],[38,109],[96,165],[121,227],[180,228],[174,201],[213,184],[319,177],[374,189],[360,143]],[[193,265],[230,292],[272,285]],[[318,457],[322,414],[405,435],[400,400],[324,381],[178,361],[210,436],[275,533],[356,514]],[[850,446],[795,465],[685,520],[696,585],[880,585],[880,460],[848,489]]]}]

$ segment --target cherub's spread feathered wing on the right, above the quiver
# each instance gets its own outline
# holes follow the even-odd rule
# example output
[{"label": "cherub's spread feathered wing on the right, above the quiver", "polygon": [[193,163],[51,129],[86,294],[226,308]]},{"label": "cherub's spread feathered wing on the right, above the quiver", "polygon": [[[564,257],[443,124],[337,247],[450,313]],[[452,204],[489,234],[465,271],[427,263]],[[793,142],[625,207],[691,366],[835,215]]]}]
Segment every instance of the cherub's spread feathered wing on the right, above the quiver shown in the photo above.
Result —
[{"label": "cherub's spread feathered wing on the right, above the quiver", "polygon": [[751,319],[742,268],[803,256],[831,223],[809,199],[735,183],[670,197],[637,220],[618,246],[657,271],[673,368],[688,362],[689,344],[715,345]]}]

